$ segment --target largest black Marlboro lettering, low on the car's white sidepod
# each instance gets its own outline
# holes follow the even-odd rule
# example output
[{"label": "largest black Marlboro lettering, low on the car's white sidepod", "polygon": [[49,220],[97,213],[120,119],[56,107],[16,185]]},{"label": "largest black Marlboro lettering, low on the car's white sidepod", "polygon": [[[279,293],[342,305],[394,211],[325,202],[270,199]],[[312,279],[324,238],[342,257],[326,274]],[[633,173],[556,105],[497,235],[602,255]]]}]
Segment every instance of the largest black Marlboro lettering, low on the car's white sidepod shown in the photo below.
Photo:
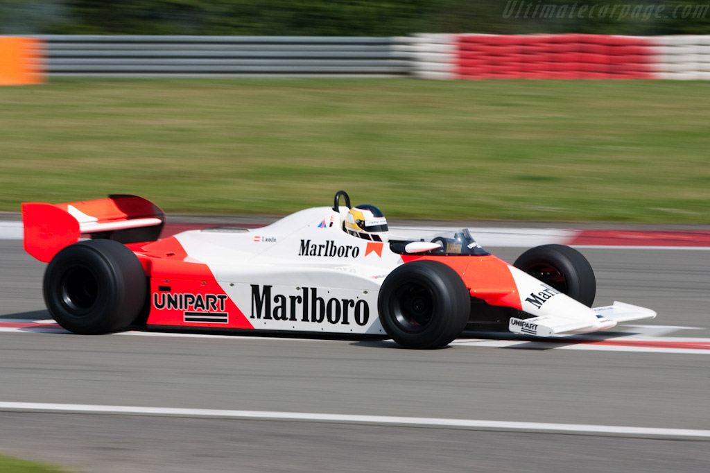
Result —
[{"label": "largest black Marlboro lettering, low on the car's white sidepod", "polygon": [[[329,322],[333,325],[367,325],[370,306],[366,300],[318,296],[316,288],[300,288],[300,295],[271,295],[273,286],[251,285],[251,318],[291,322]],[[272,305],[271,303],[274,303]]]}]

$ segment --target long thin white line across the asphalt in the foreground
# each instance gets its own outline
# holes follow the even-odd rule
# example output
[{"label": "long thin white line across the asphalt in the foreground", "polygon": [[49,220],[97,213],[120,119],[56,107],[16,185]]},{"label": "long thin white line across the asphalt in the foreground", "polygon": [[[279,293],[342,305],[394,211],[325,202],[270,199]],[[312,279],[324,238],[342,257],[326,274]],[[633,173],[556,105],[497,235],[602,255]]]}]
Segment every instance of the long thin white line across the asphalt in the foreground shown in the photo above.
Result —
[{"label": "long thin white line across the asphalt in the foreground", "polygon": [[508,422],[501,420],[393,417],[390,415],[350,415],[280,411],[226,411],[218,409],[157,408],[138,406],[95,406],[90,404],[0,402],[0,411],[43,413],[87,413],[114,415],[161,415],[254,420],[297,420],[306,422],[355,423],[366,425],[414,425],[420,427],[464,428],[472,430],[525,430],[583,434],[632,435],[640,437],[710,438],[710,430],[626,427],[621,425]]}]

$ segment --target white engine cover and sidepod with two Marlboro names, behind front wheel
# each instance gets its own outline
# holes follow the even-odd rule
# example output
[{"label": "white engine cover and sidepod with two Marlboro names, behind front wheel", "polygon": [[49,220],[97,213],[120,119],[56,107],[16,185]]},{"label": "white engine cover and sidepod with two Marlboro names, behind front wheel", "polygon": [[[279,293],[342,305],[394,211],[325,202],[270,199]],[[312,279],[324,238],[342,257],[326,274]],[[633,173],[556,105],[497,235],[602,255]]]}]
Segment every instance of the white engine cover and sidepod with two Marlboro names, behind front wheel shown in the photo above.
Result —
[{"label": "white engine cover and sidepod with two Marlboro names, behind front wheel", "polygon": [[[348,209],[339,209],[302,210],[249,232],[208,229],[175,237],[188,255],[209,266],[224,293],[255,329],[383,335],[377,317],[379,289],[402,258],[386,242],[366,241],[344,232],[342,219]],[[260,295],[268,288],[271,300],[263,304],[268,303],[271,310],[280,302],[273,299],[283,296],[288,320],[263,317],[267,309],[259,311],[255,306],[253,286],[258,286]],[[323,300],[323,311],[317,298]],[[339,302],[337,308],[335,302],[328,307],[331,300]],[[292,317],[294,311],[297,315]]]}]

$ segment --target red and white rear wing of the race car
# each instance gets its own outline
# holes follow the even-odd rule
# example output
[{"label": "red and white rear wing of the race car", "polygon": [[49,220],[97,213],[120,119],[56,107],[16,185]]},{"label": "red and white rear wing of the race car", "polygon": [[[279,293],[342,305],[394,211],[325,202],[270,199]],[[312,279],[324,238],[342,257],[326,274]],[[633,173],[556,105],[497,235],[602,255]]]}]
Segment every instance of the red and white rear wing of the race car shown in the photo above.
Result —
[{"label": "red and white rear wing of the race car", "polygon": [[143,197],[109,195],[65,204],[26,202],[22,222],[25,251],[46,263],[82,234],[121,243],[154,241],[163,229],[165,214]]}]

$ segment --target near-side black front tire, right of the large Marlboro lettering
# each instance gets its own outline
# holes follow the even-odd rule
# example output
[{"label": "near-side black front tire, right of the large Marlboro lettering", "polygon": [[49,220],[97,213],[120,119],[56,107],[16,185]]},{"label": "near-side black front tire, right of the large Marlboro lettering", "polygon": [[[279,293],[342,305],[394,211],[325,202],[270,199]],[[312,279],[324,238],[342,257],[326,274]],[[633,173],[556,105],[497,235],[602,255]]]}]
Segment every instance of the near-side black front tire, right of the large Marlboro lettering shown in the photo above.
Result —
[{"label": "near-side black front tire, right of the large Marlboro lettering", "polygon": [[405,348],[444,347],[461,335],[471,297],[461,276],[438,261],[412,261],[395,268],[378,298],[387,334]]}]

